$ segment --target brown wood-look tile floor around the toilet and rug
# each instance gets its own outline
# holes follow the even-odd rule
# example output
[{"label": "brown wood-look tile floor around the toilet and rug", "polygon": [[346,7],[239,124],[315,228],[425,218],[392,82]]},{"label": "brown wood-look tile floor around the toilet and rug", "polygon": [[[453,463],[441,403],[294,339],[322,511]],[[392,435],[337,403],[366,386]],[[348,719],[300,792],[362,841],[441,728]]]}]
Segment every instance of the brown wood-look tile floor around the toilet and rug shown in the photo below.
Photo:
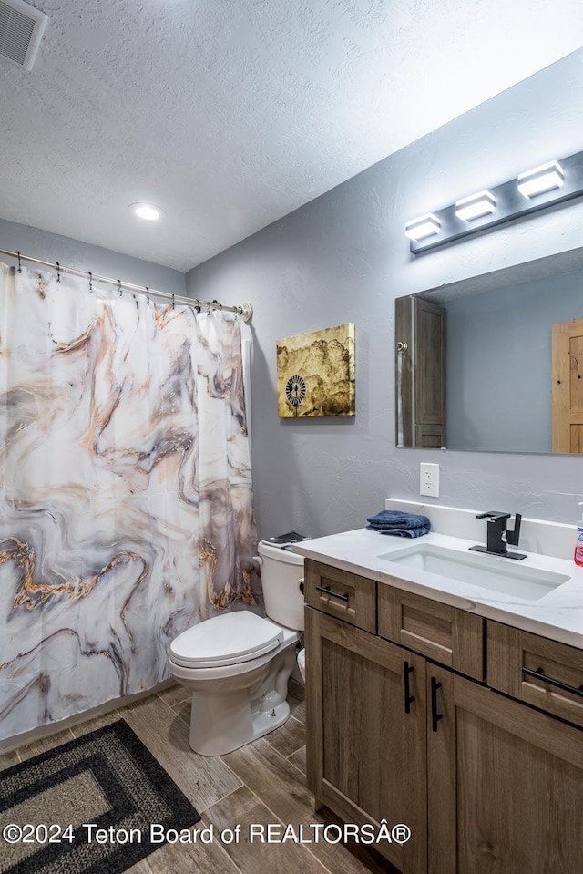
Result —
[{"label": "brown wood-look tile floor around the toilet and rug", "polygon": [[[249,826],[335,822],[326,808],[313,809],[305,786],[303,687],[290,682],[292,715],[285,725],[226,756],[199,756],[189,747],[190,699],[171,686],[135,704],[67,728],[57,735],[0,756],[0,768],[63,744],[122,717],[158,759],[202,816],[194,828],[213,825],[209,844],[165,844],[142,859],[129,874],[398,874],[382,856],[362,845],[251,843]],[[241,825],[241,839],[231,844],[216,836]]]}]

